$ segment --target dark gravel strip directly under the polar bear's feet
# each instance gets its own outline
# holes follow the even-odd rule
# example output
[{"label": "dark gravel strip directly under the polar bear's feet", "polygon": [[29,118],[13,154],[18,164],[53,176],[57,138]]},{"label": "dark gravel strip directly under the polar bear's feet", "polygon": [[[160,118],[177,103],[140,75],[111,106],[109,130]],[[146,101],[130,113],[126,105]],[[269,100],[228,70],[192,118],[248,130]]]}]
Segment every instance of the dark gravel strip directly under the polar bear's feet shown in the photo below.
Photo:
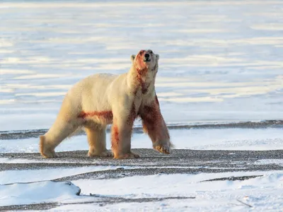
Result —
[{"label": "dark gravel strip directly under the polar bear's feet", "polygon": [[[236,172],[255,170],[283,170],[277,164],[258,164],[257,160],[282,159],[283,151],[192,151],[176,149],[171,155],[163,155],[152,149],[134,149],[141,158],[115,160],[112,158],[88,158],[87,151],[58,153],[59,158],[41,158],[39,153],[7,153],[0,158],[30,159],[33,163],[2,163],[0,171],[5,170],[40,170],[47,168],[72,168],[89,166],[114,166],[117,169],[84,173],[80,176],[69,176],[91,179],[119,178],[134,175],[156,175],[158,173],[195,174],[198,172]],[[56,162],[56,163],[54,163]],[[119,167],[125,167],[120,169]],[[127,169],[131,167],[134,169]]]}]

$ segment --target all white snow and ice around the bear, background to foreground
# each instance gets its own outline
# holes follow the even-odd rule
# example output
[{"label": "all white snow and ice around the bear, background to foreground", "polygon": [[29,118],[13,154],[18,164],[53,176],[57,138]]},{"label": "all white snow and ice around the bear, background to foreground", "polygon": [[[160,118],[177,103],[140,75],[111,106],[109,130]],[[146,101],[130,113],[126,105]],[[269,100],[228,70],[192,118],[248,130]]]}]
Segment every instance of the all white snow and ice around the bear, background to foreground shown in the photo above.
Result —
[{"label": "all white snow and ice around the bear, background to foreground", "polygon": [[[139,49],[153,49],[160,54],[156,92],[168,124],[283,119],[282,1],[4,0],[0,8],[0,131],[49,129],[64,93],[74,83],[93,73],[124,73],[131,64],[130,55],[137,54]],[[178,129],[170,133],[176,148],[251,151],[283,148],[282,128]],[[107,139],[110,148],[109,134]],[[144,134],[134,134],[132,148],[151,148],[151,141]],[[83,135],[67,139],[57,151],[87,149]],[[0,153],[35,152],[38,138],[0,140]],[[0,163],[36,162],[0,159]],[[282,165],[282,160],[255,163]],[[3,171],[0,206],[59,201],[76,204],[63,204],[51,211],[282,211],[283,208],[281,171],[135,176],[77,180],[71,185],[45,181],[115,168],[93,165]],[[231,175],[263,177],[200,182]],[[195,196],[195,199],[122,202],[100,207],[77,204],[93,198],[76,196],[76,186],[81,187],[83,194],[91,192],[106,197]]]}]

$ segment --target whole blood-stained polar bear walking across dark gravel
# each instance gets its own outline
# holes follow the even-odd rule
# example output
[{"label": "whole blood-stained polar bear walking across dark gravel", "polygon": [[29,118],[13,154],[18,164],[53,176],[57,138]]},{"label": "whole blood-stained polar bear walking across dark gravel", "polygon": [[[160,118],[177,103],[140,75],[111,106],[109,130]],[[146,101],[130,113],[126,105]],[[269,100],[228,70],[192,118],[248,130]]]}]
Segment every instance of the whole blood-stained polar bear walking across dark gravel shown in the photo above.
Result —
[{"label": "whole blood-stained polar bear walking across dark gravel", "polygon": [[[161,153],[171,153],[173,144],[154,87],[159,55],[150,49],[140,50],[131,59],[132,67],[127,73],[94,74],[67,92],[54,124],[40,136],[43,157],[57,157],[54,148],[76,129],[84,127],[88,156],[139,158],[131,151],[132,126],[137,117],[141,118],[153,148]],[[106,149],[105,142],[108,124],[112,124],[112,153]]]}]

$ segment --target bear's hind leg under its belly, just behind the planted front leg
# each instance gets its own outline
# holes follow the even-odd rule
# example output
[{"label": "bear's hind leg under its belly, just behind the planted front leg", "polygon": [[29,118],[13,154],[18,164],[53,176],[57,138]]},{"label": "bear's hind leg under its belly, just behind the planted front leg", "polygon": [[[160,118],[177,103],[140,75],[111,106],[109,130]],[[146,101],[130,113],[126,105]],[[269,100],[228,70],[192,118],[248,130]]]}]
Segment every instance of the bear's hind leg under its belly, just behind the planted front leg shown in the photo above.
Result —
[{"label": "bear's hind leg under its belly, just behind the planted front leg", "polygon": [[89,157],[111,157],[112,153],[106,149],[106,129],[105,126],[97,128],[86,128],[88,136],[88,156]]}]

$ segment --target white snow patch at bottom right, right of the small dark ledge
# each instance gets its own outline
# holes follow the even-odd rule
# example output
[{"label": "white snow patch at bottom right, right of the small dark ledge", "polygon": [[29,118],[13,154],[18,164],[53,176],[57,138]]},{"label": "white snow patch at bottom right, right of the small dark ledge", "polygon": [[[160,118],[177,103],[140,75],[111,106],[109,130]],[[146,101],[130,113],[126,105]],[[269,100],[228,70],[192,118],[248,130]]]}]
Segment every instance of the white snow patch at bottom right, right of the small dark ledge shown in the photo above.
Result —
[{"label": "white snow patch at bottom right, right of the small dark ledge", "polygon": [[[243,172],[245,175],[258,175],[260,172]],[[242,174],[243,173],[239,173]],[[226,173],[226,176],[235,173]],[[236,174],[238,175],[238,173]],[[222,177],[224,175],[221,175]],[[107,205],[103,210],[119,208],[125,211],[136,211],[138,208],[146,208],[149,211],[156,211],[162,205],[164,211],[228,211],[235,208],[247,209],[237,201],[243,201],[253,206],[252,210],[279,211],[283,207],[282,180],[283,172],[265,174],[263,177],[248,179],[245,181],[216,181],[200,182],[204,179],[212,179],[217,174],[200,175],[153,175],[146,177],[127,177],[123,179],[107,179],[87,181],[74,181],[81,187],[82,192],[98,190],[99,194],[109,196],[122,196],[129,199],[138,198],[162,198],[166,196],[187,196],[195,199],[167,200],[162,203],[139,203]],[[137,182],[139,182],[137,184]],[[115,189],[111,189],[115,188]],[[272,201],[270,201],[272,198]],[[96,206],[99,210],[99,206]],[[62,206],[65,209],[68,208]],[[96,208],[95,208],[96,209]]]}]

